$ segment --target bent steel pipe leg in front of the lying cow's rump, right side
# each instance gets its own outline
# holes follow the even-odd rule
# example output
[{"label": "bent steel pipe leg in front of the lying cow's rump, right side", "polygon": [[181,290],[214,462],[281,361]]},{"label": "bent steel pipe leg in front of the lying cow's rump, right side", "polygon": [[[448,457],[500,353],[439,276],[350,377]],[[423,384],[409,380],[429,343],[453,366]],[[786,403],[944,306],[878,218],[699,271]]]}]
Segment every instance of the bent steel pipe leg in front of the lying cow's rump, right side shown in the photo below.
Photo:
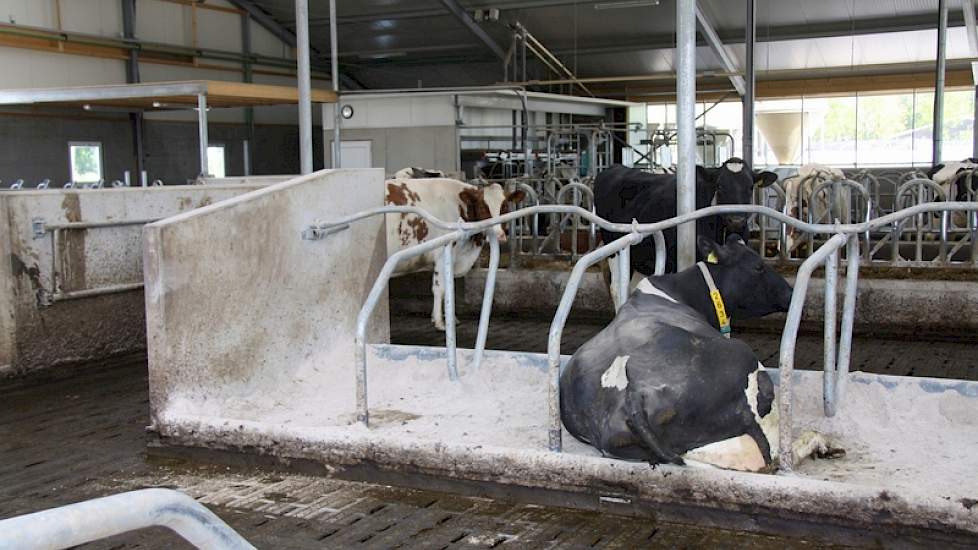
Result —
[{"label": "bent steel pipe leg in front of the lying cow's rump, right side", "polygon": [[798,326],[801,323],[802,310],[805,307],[805,295],[808,293],[808,282],[811,279],[812,271],[825,262],[826,258],[837,251],[848,240],[845,234],[836,234],[825,242],[818,250],[809,256],[795,275],[795,288],[791,293],[791,306],[788,308],[788,316],[785,320],[784,332],[781,335],[781,350],[778,373],[779,391],[779,450],[778,460],[781,471],[791,473],[794,467],[791,455],[791,426],[792,426],[792,383],[795,366],[795,341],[798,338]]}]

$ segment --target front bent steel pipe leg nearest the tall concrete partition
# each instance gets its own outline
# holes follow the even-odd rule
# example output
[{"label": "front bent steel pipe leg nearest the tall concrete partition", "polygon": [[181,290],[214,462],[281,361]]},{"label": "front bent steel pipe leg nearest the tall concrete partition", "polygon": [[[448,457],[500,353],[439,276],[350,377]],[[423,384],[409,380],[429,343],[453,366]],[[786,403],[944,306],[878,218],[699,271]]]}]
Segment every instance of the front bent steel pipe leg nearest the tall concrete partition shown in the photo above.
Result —
[{"label": "front bent steel pipe leg nearest the tall concrete partition", "polygon": [[374,286],[371,287],[370,294],[367,295],[367,300],[363,303],[363,307],[360,308],[360,313],[357,314],[357,332],[354,338],[354,365],[356,368],[357,381],[357,421],[362,423],[364,426],[368,426],[370,422],[367,407],[367,323],[370,321],[370,314],[373,313],[374,308],[377,307],[377,302],[380,301],[384,288],[387,287],[387,283],[390,281],[391,274],[394,273],[394,269],[397,267],[397,264],[406,258],[420,256],[421,254],[435,250],[439,247],[450,245],[459,239],[467,238],[475,233],[478,233],[478,231],[467,231],[461,229],[451,233],[446,233],[430,241],[425,241],[410,248],[399,250],[394,254],[391,254],[390,257],[387,258],[387,261],[384,262],[384,267],[381,268],[380,274],[377,275],[377,279],[374,281]]}]

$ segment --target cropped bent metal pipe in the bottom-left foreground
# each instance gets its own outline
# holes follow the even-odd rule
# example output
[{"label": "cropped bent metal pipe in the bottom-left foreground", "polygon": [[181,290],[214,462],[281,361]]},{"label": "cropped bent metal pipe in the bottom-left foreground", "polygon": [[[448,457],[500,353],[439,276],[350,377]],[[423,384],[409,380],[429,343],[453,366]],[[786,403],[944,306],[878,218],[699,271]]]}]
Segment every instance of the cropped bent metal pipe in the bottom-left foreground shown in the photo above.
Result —
[{"label": "cropped bent metal pipe in the bottom-left foreground", "polygon": [[0,548],[69,548],[166,527],[197,548],[254,550],[204,505],[172,489],[141,489],[0,521]]}]

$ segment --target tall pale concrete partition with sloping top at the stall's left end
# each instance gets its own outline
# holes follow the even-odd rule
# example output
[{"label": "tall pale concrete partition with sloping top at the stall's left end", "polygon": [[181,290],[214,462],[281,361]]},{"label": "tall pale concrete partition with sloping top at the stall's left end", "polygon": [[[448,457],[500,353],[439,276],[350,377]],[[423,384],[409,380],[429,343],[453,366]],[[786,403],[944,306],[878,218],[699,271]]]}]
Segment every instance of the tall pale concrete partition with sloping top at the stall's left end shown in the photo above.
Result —
[{"label": "tall pale concrete partition with sloping top at the stall's left end", "polygon": [[[324,170],[148,225],[154,424],[181,403],[267,402],[321,369],[350,364],[352,377],[357,313],[387,257],[384,219],[319,241],[300,234],[383,200],[381,170]],[[385,294],[368,337],[388,335]]]}]

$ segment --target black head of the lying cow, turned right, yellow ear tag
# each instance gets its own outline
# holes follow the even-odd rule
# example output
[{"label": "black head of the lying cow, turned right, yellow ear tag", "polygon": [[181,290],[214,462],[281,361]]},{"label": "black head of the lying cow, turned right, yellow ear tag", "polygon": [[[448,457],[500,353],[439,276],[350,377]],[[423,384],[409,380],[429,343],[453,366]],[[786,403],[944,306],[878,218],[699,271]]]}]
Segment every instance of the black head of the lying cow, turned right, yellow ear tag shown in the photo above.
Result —
[{"label": "black head of the lying cow, turned right, yellow ear tag", "polygon": [[739,235],[730,235],[723,245],[700,236],[697,246],[703,257],[716,257],[717,265],[711,272],[731,318],[751,319],[788,311],[791,285],[748,248]]}]

